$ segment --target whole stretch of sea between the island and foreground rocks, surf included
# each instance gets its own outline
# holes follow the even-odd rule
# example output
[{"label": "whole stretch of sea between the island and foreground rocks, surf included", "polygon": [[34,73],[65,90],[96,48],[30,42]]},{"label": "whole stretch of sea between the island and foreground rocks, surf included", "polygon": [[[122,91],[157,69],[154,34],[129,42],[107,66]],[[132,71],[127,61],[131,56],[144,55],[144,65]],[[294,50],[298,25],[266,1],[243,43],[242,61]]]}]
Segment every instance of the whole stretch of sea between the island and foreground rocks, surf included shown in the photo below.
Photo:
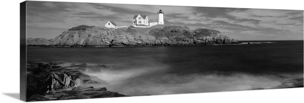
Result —
[{"label": "whole stretch of sea between the island and foreground rocks, surf included", "polygon": [[[265,42],[265,41],[240,41]],[[28,47],[27,61],[105,64],[89,74],[125,95],[161,95],[272,88],[303,77],[303,41],[250,45],[124,48]]]}]

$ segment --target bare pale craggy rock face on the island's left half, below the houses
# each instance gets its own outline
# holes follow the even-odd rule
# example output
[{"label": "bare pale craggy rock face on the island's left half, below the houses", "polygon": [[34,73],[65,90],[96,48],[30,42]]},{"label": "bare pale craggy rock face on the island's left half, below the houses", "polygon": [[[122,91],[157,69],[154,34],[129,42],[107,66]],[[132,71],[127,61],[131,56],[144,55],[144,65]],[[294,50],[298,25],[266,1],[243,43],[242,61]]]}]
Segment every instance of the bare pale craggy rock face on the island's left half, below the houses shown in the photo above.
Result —
[{"label": "bare pale craggy rock face on the island's left half, below the houses", "polygon": [[154,45],[155,38],[150,35],[118,32],[107,27],[93,27],[86,30],[65,31],[47,46],[59,47],[109,47]]}]

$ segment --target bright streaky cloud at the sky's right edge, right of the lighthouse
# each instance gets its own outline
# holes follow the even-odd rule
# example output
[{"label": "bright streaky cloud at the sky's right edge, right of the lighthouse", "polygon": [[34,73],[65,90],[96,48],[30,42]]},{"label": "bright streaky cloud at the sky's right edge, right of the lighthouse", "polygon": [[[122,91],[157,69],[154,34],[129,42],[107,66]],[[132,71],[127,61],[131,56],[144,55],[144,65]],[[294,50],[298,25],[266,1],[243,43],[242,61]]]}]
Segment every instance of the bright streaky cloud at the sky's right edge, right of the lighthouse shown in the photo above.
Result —
[{"label": "bright streaky cloud at the sky's right edge, right of the lighthouse", "polygon": [[[303,32],[303,11],[299,10],[247,9],[229,12],[228,15],[235,17],[236,21],[241,19],[251,20],[251,22],[233,22],[233,24],[253,28],[273,28]],[[301,18],[294,19],[298,17]],[[260,22],[253,22],[252,20]]]}]

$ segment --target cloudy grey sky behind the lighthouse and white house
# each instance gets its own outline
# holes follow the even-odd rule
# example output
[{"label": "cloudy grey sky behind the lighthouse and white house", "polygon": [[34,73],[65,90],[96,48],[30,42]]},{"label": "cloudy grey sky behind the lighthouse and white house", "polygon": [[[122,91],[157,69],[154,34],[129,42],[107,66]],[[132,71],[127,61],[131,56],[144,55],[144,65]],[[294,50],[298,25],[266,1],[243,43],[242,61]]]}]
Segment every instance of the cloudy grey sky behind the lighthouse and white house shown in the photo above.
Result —
[{"label": "cloudy grey sky behind the lighthouse and white house", "polygon": [[165,25],[207,28],[246,40],[303,40],[303,10],[28,1],[27,37],[51,39],[78,25],[132,25],[134,15]]}]

